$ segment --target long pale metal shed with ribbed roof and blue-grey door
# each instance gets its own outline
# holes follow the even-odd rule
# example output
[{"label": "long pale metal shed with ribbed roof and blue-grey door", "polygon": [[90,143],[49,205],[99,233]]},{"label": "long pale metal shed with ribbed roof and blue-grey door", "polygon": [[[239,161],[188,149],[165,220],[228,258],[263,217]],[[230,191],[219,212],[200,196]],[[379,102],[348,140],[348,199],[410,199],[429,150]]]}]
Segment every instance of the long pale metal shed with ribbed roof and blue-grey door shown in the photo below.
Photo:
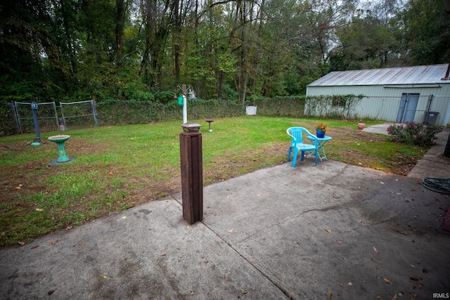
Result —
[{"label": "long pale metal shed with ribbed roof and blue-grey door", "polygon": [[[340,96],[364,95],[347,117],[446,126],[450,121],[449,70],[450,65],[443,64],[330,72],[307,86],[305,114],[345,112],[349,107]],[[308,96],[331,96],[333,100],[319,100],[311,110]]]}]

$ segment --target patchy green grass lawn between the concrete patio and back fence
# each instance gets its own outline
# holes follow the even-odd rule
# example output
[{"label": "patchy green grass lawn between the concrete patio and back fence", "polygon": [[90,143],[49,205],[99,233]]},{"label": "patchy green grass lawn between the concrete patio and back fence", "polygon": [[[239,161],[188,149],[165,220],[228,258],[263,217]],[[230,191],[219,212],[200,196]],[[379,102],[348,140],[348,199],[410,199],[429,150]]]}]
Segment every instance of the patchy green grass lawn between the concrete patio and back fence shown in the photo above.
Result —
[{"label": "patchy green grass lawn between the concrete patio and back fence", "polygon": [[[285,162],[286,129],[316,119],[233,117],[203,125],[203,181],[208,185]],[[328,159],[406,175],[426,148],[392,143],[389,136],[357,131],[357,122],[326,121]],[[379,122],[365,121],[366,126]],[[180,121],[102,126],[66,131],[74,162],[49,166],[58,158],[55,143],[41,133],[0,138],[0,247],[28,242],[58,229],[70,229],[181,192]],[[299,167],[300,162],[297,163]]]}]

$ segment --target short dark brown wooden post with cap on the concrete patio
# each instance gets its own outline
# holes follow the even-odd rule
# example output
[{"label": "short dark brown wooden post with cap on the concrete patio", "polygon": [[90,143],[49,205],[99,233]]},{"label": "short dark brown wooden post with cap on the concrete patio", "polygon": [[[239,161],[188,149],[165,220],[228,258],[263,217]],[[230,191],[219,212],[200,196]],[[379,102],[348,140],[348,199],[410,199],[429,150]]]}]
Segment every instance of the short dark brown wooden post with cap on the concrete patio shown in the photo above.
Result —
[{"label": "short dark brown wooden post with cap on the concrete patio", "polygon": [[180,134],[183,218],[189,224],[203,220],[203,154],[200,125],[184,123]]}]

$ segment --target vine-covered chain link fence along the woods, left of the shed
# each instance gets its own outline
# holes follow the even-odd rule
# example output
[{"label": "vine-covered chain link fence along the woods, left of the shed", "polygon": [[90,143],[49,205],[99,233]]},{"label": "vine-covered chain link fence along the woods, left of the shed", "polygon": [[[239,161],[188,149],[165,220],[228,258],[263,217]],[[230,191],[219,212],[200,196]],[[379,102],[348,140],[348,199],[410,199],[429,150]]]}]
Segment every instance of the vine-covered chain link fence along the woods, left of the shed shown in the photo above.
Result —
[{"label": "vine-covered chain link fence along the woods, left of the shed", "polygon": [[[259,115],[278,117],[304,116],[304,96],[259,98],[252,100],[258,105]],[[183,108],[174,101],[159,103],[155,101],[106,99],[101,103],[95,100],[74,103],[38,103],[38,124],[40,131],[65,131],[85,126],[145,124],[182,119]],[[245,105],[236,100],[188,100],[188,119],[212,119],[238,117],[245,115]],[[4,131],[3,134],[34,132],[31,103],[11,102],[17,130]],[[12,117],[8,117],[11,123]],[[0,131],[1,133],[1,131]],[[1,134],[0,134],[1,135]]]}]

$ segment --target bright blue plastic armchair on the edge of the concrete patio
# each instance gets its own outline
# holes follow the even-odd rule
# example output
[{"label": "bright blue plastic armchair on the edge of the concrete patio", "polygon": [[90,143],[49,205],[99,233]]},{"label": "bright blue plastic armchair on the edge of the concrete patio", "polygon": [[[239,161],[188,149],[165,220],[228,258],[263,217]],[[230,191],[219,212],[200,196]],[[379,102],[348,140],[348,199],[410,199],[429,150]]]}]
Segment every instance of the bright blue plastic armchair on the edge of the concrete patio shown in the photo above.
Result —
[{"label": "bright blue plastic armchair on the edge of the concrete patio", "polygon": [[[305,151],[312,151],[314,152],[314,156],[316,157],[316,166],[317,166],[318,163],[317,159],[319,157],[319,153],[317,152],[317,150],[319,149],[317,137],[303,127],[290,127],[288,128],[288,130],[286,130],[286,133],[288,133],[288,136],[293,138],[293,143],[291,143],[289,147],[288,162],[290,161],[290,153],[292,152],[292,150],[294,150],[293,167],[295,167],[295,162],[297,162],[297,155],[299,151],[302,152],[302,157],[300,160],[304,159]],[[309,137],[309,139],[306,141],[307,143],[303,143],[304,133],[305,136]],[[313,143],[311,144],[311,142]]]}]

